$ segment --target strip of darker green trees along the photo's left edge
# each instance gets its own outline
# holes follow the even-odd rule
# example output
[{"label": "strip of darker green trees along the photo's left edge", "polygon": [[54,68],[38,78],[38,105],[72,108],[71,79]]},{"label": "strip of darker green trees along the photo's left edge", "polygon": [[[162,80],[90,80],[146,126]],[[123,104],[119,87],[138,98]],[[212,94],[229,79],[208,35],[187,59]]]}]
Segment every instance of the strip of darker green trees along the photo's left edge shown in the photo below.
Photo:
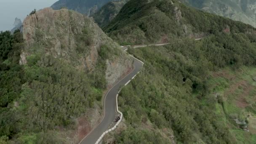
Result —
[{"label": "strip of darker green trees along the photo's left edge", "polygon": [[[8,140],[18,127],[10,104],[21,94],[23,69],[19,66],[22,35],[15,31],[0,33],[0,141]],[[8,137],[7,137],[8,136]]]}]

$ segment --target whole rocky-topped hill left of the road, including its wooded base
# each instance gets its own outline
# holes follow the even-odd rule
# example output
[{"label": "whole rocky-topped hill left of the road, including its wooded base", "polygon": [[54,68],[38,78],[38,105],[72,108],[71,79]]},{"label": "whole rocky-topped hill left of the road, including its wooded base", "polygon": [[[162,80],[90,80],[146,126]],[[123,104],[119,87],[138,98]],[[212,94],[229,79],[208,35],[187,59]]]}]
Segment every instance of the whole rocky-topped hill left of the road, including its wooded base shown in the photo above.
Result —
[{"label": "whole rocky-topped hill left of the road, including its wooded base", "polygon": [[79,142],[101,120],[103,91],[130,72],[131,59],[91,18],[67,9],[37,11],[16,35],[17,43],[0,35],[0,142]]}]

